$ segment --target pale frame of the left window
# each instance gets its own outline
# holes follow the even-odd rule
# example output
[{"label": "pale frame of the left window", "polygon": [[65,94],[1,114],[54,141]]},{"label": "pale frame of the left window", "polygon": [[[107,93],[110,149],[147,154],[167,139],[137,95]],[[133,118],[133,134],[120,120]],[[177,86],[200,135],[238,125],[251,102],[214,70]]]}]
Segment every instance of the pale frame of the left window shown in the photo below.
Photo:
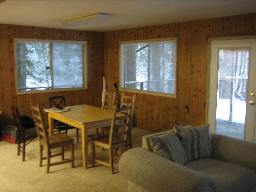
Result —
[{"label": "pale frame of the left window", "polygon": [[[17,42],[47,42],[47,43],[74,43],[83,45],[83,87],[71,87],[71,88],[54,88],[49,87],[43,90],[19,90],[18,88],[18,63],[17,63]],[[59,91],[76,91],[88,89],[88,42],[87,41],[75,41],[75,40],[52,40],[52,39],[30,39],[30,38],[14,38],[14,60],[15,60],[15,90],[17,95],[33,94],[33,93],[47,93],[47,92],[59,92]],[[50,44],[52,47],[52,44]],[[52,49],[49,50],[52,54]],[[50,66],[52,66],[52,56],[50,57]],[[51,70],[51,73],[53,71]]]}]

